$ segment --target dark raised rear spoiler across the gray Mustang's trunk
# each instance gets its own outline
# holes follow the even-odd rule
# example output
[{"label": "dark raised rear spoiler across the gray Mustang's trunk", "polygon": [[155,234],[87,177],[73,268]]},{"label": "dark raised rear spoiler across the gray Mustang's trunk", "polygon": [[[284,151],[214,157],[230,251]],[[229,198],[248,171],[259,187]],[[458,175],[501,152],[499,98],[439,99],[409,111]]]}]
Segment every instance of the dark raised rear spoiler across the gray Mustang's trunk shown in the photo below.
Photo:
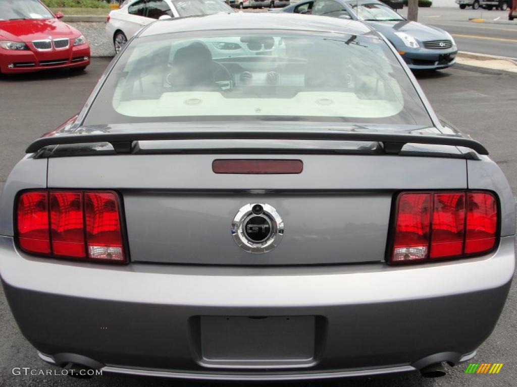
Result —
[{"label": "dark raised rear spoiler across the gray Mustang's trunk", "polygon": [[434,144],[465,147],[482,155],[488,150],[478,141],[449,135],[386,134],[338,131],[176,131],[142,133],[102,133],[54,135],[35,140],[25,150],[34,153],[48,146],[61,144],[85,144],[109,142],[117,153],[131,153],[134,141],[153,140],[336,140],[336,141],[375,141],[383,143],[384,152],[399,154],[405,144]]}]

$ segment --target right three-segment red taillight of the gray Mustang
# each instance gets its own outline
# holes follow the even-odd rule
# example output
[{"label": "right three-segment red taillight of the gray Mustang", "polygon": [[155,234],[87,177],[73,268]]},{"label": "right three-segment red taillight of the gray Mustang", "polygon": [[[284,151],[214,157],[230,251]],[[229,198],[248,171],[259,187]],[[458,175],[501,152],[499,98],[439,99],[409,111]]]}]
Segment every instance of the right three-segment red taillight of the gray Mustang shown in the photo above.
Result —
[{"label": "right three-segment red taillight of the gray Mustang", "polygon": [[481,254],[495,247],[497,203],[490,192],[403,192],[395,214],[392,263]]}]

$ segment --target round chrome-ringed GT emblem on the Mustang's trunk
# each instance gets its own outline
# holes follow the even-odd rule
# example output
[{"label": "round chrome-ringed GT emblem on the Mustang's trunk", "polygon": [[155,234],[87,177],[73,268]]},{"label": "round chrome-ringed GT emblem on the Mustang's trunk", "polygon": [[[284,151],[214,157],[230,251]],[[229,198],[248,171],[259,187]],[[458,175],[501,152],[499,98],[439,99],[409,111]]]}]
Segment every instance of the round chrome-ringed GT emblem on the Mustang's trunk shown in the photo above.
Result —
[{"label": "round chrome-ringed GT emblem on the Mustang's trunk", "polygon": [[284,222],[269,204],[246,204],[232,221],[237,246],[250,253],[267,253],[278,246],[284,235]]}]

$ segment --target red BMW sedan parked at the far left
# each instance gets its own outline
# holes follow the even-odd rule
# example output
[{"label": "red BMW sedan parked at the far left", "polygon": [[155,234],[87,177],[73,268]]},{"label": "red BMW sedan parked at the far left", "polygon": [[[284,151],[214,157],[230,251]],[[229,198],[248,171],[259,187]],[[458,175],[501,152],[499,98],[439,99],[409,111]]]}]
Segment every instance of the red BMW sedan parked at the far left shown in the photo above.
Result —
[{"label": "red BMW sedan parked at the far left", "polygon": [[81,33],[38,0],[0,0],[0,73],[84,70],[90,47]]}]

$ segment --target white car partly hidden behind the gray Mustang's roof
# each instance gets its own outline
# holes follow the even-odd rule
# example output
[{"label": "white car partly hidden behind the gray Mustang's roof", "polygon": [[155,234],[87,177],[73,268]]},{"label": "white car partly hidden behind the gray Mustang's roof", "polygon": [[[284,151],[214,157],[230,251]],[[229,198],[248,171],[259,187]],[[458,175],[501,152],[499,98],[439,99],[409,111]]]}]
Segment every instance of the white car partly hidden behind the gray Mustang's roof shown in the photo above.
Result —
[{"label": "white car partly hidden behind the gray Mustang's roof", "polygon": [[110,12],[106,33],[118,54],[136,31],[157,19],[231,12],[234,10],[221,0],[130,0]]}]

